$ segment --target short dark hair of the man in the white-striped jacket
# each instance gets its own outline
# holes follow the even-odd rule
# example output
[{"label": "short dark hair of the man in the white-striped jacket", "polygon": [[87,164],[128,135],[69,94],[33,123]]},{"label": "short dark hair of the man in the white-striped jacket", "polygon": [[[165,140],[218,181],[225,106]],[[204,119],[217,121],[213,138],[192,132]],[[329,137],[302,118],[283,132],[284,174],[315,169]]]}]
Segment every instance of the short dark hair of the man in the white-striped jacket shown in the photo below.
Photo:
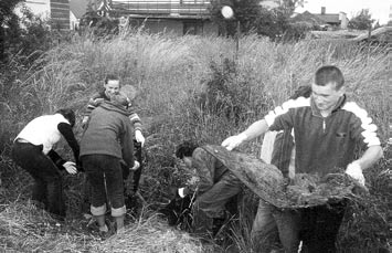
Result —
[{"label": "short dark hair of the man in the white-striped jacket", "polygon": [[326,86],[329,83],[335,83],[335,88],[339,89],[345,84],[343,74],[333,65],[321,66],[316,71],[315,84],[319,86]]}]

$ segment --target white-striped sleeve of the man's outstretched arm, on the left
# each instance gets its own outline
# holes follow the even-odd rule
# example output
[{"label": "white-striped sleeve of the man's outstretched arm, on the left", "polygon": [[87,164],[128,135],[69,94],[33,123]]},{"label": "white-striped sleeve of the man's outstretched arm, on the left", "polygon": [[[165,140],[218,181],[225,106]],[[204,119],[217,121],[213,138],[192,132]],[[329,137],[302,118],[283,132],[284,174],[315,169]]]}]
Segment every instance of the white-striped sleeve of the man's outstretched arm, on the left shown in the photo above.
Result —
[{"label": "white-striped sleeve of the man's outstretched arm, on the left", "polygon": [[[277,117],[287,114],[288,110],[292,108],[304,107],[304,106],[310,106],[310,98],[298,97],[297,99],[289,99],[289,101],[283,103],[282,106],[277,106],[274,110],[271,110],[264,117],[264,119],[267,122],[268,127],[272,127],[274,124],[277,124],[276,123]],[[287,117],[287,119],[288,119],[288,117]],[[276,129],[274,128],[274,130],[280,130],[285,127],[277,126],[277,128]]]}]

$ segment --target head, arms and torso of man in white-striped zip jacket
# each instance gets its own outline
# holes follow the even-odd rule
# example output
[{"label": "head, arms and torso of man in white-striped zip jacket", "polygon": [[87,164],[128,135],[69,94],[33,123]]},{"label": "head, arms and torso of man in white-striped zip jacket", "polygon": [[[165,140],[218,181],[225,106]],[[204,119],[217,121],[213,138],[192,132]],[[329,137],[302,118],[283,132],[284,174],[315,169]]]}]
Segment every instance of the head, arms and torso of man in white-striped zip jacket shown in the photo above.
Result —
[{"label": "head, arms and torso of man in white-striped zip jacket", "polygon": [[[226,138],[222,146],[232,150],[267,130],[293,128],[296,173],[324,176],[335,168],[346,168],[347,175],[364,185],[362,170],[382,157],[377,126],[364,109],[354,102],[347,101],[343,75],[337,66],[327,65],[317,70],[309,98],[287,101],[243,133]],[[354,157],[357,145],[364,149],[358,159]],[[340,215],[336,219],[340,224],[342,214],[336,215]],[[289,229],[297,233],[297,228]],[[338,230],[339,225],[330,231],[326,242],[309,245],[309,251],[325,252],[326,249],[335,251]],[[296,252],[298,243],[284,246],[287,252]],[[319,249],[320,246],[322,249]]]}]

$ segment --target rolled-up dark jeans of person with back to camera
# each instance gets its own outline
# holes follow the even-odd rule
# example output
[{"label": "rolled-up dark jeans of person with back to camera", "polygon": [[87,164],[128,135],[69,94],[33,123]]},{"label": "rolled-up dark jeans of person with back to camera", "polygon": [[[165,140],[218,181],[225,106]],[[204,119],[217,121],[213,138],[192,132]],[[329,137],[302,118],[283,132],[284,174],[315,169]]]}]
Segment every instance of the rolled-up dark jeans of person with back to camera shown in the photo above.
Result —
[{"label": "rolled-up dark jeans of person with back to camera", "polygon": [[91,211],[104,215],[106,202],[112,207],[113,217],[125,214],[123,170],[117,157],[88,155],[81,158],[92,186]]}]

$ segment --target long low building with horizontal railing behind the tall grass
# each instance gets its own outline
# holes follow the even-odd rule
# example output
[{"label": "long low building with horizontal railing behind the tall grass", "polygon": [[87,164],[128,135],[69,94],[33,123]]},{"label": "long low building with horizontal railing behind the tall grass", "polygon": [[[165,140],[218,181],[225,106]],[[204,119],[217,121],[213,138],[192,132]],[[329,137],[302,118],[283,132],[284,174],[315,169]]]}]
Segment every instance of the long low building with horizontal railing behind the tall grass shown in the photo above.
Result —
[{"label": "long low building with horizontal railing behind the tall grass", "polygon": [[218,25],[210,7],[210,0],[113,0],[109,13],[123,17],[123,24],[142,25],[152,33],[211,35],[218,34]]}]

